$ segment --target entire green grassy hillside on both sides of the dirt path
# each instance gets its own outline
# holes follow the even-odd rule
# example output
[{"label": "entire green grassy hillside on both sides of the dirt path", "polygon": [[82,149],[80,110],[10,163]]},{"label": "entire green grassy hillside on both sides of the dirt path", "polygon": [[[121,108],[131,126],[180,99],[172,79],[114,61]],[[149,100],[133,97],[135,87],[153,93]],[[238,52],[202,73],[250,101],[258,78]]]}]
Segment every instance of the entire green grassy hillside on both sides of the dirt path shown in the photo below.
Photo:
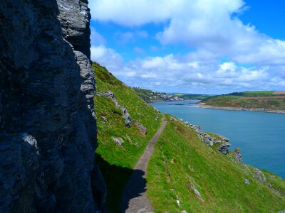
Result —
[{"label": "entire green grassy hillside on both sides of the dirt path", "polygon": [[[110,97],[95,95],[98,122],[96,163],[103,173],[110,212],[120,212],[121,195],[145,146],[161,123],[161,115],[105,67],[94,63],[97,93],[113,92],[134,124],[125,126],[123,112]],[[285,182],[267,173],[266,182],[254,178],[254,168],[207,147],[189,126],[167,117],[147,170],[147,196],[155,212],[278,212],[285,209]],[[121,146],[113,138],[118,138]],[[244,183],[248,179],[250,185]],[[193,185],[201,197],[190,188]],[[282,194],[282,195],[281,195]],[[178,207],[179,200],[181,207]]]}]

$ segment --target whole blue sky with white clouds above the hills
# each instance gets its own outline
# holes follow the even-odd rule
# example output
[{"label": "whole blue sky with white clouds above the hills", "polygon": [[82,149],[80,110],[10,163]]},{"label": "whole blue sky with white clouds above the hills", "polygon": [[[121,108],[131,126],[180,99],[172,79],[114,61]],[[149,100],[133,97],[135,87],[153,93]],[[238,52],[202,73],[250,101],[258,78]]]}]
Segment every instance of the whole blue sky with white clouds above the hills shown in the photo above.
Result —
[{"label": "whole blue sky with white clouds above the hills", "polygon": [[132,87],[285,90],[285,1],[89,0],[91,59]]}]

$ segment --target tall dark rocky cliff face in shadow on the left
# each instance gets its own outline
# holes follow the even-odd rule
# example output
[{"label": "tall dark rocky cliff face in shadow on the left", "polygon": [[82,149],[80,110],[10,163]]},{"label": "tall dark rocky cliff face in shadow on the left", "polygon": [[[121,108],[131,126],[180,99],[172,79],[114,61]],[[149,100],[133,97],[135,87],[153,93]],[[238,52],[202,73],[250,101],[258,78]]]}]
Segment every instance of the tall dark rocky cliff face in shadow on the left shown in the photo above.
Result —
[{"label": "tall dark rocky cliff face in shadow on the left", "polygon": [[0,3],[0,212],[95,212],[87,0]]}]

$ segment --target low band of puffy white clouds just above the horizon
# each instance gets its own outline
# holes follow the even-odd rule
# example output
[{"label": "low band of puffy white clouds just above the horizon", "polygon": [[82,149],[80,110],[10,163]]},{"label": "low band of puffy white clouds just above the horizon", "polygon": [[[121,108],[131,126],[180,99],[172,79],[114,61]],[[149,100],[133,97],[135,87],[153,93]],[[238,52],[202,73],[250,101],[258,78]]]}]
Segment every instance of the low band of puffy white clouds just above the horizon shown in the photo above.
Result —
[{"label": "low band of puffy white clouds just above the horizon", "polygon": [[112,72],[131,86],[167,92],[227,93],[284,87],[284,80],[269,67],[243,67],[234,62],[213,65],[172,54],[137,59],[113,67]]}]

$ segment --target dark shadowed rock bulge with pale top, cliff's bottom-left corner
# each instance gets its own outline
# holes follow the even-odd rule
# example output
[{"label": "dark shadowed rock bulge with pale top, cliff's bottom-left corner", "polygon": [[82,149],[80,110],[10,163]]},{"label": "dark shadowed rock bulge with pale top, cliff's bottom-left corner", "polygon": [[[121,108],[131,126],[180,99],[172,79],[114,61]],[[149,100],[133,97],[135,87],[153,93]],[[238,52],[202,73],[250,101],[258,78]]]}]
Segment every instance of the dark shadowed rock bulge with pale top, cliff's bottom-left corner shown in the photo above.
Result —
[{"label": "dark shadowed rock bulge with pale top, cliff's bottom-left corner", "polygon": [[36,139],[26,133],[2,134],[0,153],[0,212],[41,207],[45,185]]}]

